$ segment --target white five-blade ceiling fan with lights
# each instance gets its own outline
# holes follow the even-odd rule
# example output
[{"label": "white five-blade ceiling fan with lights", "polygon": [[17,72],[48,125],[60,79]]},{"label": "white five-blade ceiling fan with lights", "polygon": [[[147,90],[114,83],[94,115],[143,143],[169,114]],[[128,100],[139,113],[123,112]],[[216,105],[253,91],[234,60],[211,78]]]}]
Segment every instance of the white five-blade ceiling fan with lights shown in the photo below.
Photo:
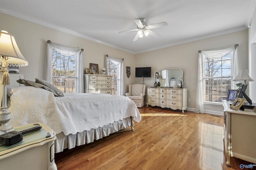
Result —
[{"label": "white five-blade ceiling fan with lights", "polygon": [[164,27],[167,25],[166,22],[160,22],[160,23],[155,23],[152,25],[147,25],[147,23],[145,22],[146,21],[145,18],[140,18],[139,20],[134,19],[133,21],[137,24],[137,29],[130,29],[127,31],[119,32],[119,33],[124,33],[124,32],[130,32],[130,31],[138,31],[137,34],[135,35],[133,41],[137,41],[138,38],[143,37],[143,35],[145,35],[145,36],[152,35],[153,37],[160,37],[160,34],[155,33],[154,31],[151,31],[150,29]]}]

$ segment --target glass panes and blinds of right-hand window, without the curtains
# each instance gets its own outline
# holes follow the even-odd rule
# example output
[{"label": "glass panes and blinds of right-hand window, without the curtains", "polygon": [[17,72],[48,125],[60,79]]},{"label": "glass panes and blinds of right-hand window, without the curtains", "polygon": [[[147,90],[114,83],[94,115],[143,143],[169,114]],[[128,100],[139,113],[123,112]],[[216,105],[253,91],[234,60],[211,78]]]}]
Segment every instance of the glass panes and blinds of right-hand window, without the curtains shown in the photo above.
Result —
[{"label": "glass panes and blinds of right-hand window, without the curtains", "polygon": [[204,57],[204,102],[222,102],[231,89],[231,53],[220,58]]}]

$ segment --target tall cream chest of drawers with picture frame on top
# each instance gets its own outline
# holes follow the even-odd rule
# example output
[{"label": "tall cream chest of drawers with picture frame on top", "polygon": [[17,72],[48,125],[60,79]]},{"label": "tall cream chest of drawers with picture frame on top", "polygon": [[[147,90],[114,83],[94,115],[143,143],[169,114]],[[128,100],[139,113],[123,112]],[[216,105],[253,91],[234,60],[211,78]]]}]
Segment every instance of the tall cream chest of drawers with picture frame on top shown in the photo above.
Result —
[{"label": "tall cream chest of drawers with picture frame on top", "polygon": [[84,74],[84,92],[112,94],[112,76]]}]

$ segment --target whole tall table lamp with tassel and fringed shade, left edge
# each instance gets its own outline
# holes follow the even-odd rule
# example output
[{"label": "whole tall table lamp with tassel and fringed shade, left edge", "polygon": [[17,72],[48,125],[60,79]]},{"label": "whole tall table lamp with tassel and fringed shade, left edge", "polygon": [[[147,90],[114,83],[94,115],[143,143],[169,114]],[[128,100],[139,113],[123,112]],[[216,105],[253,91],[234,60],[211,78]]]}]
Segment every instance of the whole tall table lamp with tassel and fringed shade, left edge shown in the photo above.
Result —
[{"label": "whole tall table lamp with tassel and fringed shade, left edge", "polygon": [[[9,64],[12,66],[27,66],[28,61],[20,53],[18,45],[14,39],[14,36],[9,34],[7,31],[0,31],[0,60],[2,61],[1,72],[2,72],[2,107],[0,111],[0,130],[4,132],[11,131],[14,129],[8,125],[10,121],[10,111],[7,107],[7,85],[10,85],[10,76],[8,72]],[[1,63],[0,63],[1,64]]]}]

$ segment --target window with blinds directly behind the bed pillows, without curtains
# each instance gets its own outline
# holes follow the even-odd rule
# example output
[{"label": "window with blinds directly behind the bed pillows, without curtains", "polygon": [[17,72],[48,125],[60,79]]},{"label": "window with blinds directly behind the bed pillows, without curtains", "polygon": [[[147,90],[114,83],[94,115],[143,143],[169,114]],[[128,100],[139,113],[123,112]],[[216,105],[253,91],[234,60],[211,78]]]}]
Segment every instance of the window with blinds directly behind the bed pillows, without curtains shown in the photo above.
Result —
[{"label": "window with blinds directly behind the bed pillows, without curtains", "polygon": [[78,54],[52,48],[52,84],[63,93],[78,93]]}]

